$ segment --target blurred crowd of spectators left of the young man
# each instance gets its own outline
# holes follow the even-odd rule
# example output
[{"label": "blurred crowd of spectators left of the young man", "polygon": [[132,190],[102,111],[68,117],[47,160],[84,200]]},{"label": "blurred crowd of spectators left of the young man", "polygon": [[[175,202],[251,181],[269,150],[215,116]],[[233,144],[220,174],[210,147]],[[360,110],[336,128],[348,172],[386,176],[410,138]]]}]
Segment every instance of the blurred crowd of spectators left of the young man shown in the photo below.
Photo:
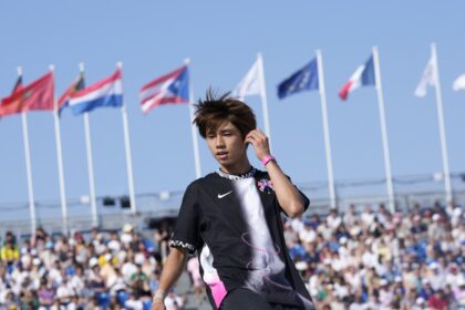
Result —
[{"label": "blurred crowd of spectators left of the young man", "polygon": [[[125,225],[65,237],[40,228],[20,241],[9,231],[0,250],[0,309],[149,309],[168,234],[145,238]],[[183,302],[173,290],[167,309]]]}]

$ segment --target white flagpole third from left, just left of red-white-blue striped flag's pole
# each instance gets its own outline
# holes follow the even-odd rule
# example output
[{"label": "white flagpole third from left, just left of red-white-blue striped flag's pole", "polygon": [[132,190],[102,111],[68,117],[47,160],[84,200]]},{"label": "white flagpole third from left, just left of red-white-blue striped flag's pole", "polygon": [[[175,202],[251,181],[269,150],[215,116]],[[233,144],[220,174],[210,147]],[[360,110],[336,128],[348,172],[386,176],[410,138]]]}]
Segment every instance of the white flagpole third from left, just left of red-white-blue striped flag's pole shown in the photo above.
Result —
[{"label": "white flagpole third from left, just left of red-white-blue striped flag's pole", "polygon": [[[79,70],[84,75],[84,63],[79,64]],[[92,226],[99,227],[99,216],[95,198],[95,179],[94,179],[94,164],[92,159],[92,142],[91,142],[91,126],[89,123],[89,112],[84,112],[84,133],[85,133],[85,148],[87,152],[87,168],[89,168],[89,192],[91,196],[91,210],[92,210]]]}]

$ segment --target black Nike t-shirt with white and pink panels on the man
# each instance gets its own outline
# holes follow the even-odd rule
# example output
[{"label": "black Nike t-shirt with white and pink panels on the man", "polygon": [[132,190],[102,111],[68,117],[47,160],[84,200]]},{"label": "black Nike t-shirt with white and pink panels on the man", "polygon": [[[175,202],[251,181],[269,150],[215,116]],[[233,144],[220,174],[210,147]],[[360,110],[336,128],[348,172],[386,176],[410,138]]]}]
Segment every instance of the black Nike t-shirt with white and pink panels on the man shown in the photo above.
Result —
[{"label": "black Nike t-shirt with white and pink panels on the man", "polygon": [[170,246],[198,252],[214,309],[236,288],[314,309],[286,248],[281,213],[269,175],[255,168],[240,176],[218,170],[187,187]]}]

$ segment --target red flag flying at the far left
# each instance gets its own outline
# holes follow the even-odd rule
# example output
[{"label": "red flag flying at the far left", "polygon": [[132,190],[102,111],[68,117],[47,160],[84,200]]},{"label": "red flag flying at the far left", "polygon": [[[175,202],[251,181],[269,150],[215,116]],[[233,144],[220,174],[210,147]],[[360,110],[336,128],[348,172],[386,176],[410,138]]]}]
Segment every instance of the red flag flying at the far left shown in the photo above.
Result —
[{"label": "red flag flying at the far left", "polygon": [[53,73],[49,72],[31,84],[22,86],[18,79],[10,96],[1,100],[0,116],[7,116],[28,111],[53,110],[54,86]]}]

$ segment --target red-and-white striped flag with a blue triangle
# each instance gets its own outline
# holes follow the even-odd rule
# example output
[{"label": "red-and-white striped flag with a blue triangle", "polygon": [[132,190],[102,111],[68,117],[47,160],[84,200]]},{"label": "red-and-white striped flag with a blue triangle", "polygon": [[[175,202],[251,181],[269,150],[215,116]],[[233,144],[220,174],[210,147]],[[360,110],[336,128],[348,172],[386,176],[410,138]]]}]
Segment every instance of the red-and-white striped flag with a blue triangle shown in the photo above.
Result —
[{"label": "red-and-white striped flag with a blue triangle", "polygon": [[142,112],[148,113],[162,104],[189,102],[189,73],[187,65],[145,84],[138,94]]}]

